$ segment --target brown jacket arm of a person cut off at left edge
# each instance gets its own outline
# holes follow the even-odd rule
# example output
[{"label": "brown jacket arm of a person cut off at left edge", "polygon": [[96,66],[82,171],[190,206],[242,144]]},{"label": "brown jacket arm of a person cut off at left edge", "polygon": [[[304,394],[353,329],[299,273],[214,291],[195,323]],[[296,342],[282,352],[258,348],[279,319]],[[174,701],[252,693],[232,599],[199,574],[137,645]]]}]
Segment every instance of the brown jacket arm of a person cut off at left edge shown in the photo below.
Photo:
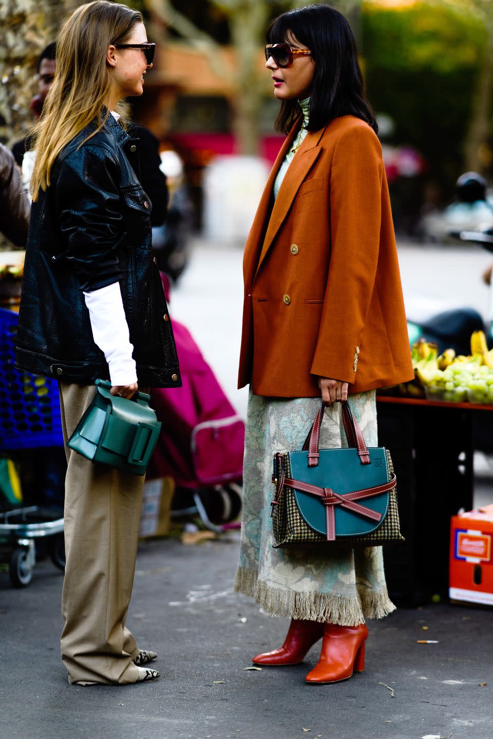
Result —
[{"label": "brown jacket arm of a person cut off at left edge", "polygon": [[17,246],[25,246],[30,202],[13,154],[0,143],[0,231]]}]

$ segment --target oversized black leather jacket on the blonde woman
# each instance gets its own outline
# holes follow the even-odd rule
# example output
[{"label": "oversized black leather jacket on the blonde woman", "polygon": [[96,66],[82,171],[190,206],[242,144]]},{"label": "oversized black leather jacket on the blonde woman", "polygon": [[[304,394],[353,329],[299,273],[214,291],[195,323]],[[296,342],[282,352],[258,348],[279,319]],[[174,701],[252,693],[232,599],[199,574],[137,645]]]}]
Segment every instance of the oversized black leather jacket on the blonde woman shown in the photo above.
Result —
[{"label": "oversized black leather jacket on the blonde woman", "polygon": [[50,187],[33,203],[16,367],[79,384],[109,378],[83,290],[119,281],[139,383],[180,386],[152,251],[152,205],[135,175],[139,141],[109,115],[103,129],[82,143],[94,129],[91,124],[61,151]]}]

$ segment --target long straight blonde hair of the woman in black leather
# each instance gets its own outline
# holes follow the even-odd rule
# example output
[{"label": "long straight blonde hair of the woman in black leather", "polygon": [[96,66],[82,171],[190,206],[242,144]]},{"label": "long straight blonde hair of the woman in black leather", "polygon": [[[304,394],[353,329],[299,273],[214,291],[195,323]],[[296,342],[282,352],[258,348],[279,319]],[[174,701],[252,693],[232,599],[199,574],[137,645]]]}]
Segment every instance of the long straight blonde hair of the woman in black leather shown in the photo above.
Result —
[{"label": "long straight blonde hair of the woman in black leather", "polygon": [[110,44],[123,44],[142,14],[120,3],[95,0],[81,5],[67,18],[56,42],[55,79],[33,129],[35,167],[31,177],[33,200],[50,185],[53,163],[92,120],[102,128],[109,111],[112,78],[106,67]]}]

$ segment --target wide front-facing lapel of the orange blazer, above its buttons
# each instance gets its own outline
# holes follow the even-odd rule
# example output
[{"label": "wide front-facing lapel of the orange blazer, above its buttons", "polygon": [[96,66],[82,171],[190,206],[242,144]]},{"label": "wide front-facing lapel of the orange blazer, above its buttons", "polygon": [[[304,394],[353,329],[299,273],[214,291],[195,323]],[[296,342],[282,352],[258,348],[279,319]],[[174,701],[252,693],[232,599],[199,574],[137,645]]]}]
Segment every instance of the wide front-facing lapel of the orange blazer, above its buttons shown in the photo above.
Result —
[{"label": "wide front-facing lapel of the orange blazer, above its buttons", "polygon": [[[296,156],[290,163],[288,171],[285,174],[284,180],[282,180],[279,193],[274,202],[271,218],[269,219],[267,232],[265,234],[264,243],[262,245],[262,251],[260,252],[256,273],[258,273],[260,265],[265,259],[265,255],[268,253],[269,248],[275,238],[279,228],[281,228],[282,222],[288,214],[288,211],[293,202],[294,196],[299,190],[299,186],[307,176],[310,168],[313,166],[316,158],[319,156],[320,149],[319,141],[322,138],[324,129],[321,131],[308,132],[302,141],[302,145],[296,153]],[[284,157],[283,157],[284,158]],[[276,160],[277,163],[277,160]],[[280,166],[280,163],[279,163]],[[279,167],[277,168],[279,171]],[[276,174],[277,174],[276,171]],[[275,176],[274,176],[275,179]],[[272,183],[273,185],[273,183]]]}]

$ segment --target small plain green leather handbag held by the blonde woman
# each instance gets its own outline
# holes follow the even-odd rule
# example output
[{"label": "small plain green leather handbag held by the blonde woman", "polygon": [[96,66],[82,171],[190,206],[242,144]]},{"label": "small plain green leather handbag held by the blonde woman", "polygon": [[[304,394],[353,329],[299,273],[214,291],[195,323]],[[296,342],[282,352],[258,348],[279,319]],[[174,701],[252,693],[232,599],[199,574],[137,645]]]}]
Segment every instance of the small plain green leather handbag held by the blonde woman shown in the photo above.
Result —
[{"label": "small plain green leather handbag held by the blonde woman", "polygon": [[95,381],[95,396],[67,442],[91,462],[132,474],[145,474],[161,424],[149,407],[151,396],[136,392],[130,399],[109,392],[112,384]]}]

